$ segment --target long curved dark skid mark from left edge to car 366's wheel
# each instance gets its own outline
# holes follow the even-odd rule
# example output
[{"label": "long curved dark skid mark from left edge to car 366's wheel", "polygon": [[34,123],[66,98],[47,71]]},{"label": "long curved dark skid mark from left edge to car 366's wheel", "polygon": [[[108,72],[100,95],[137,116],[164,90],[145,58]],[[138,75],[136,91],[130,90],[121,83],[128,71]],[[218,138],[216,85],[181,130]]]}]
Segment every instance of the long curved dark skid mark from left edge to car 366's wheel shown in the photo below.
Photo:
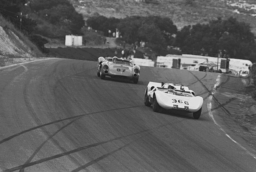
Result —
[{"label": "long curved dark skid mark from left edge to car 366's wheel", "polygon": [[52,121],[52,122],[49,122],[49,123],[46,123],[46,124],[42,124],[42,125],[33,127],[31,129],[27,129],[27,130],[21,131],[21,132],[19,132],[17,134],[14,134],[14,135],[10,136],[10,137],[7,137],[7,138],[5,138],[5,139],[0,141],[0,145],[2,143],[4,143],[4,142],[7,142],[8,140],[11,140],[11,139],[13,139],[15,137],[18,137],[18,136],[20,136],[20,135],[22,135],[24,133],[29,132],[29,131],[33,131],[35,129],[39,129],[39,128],[42,128],[42,127],[45,127],[45,126],[48,126],[48,125],[52,125],[52,124],[55,124],[55,123],[58,123],[58,122],[61,122],[61,121],[71,120],[71,119],[74,119],[74,118],[84,117],[84,116],[87,116],[87,115],[92,115],[92,114],[97,114],[97,113],[110,112],[110,111],[115,111],[115,110],[120,110],[120,109],[130,109],[130,108],[136,108],[136,107],[144,107],[144,106],[140,105],[140,106],[130,106],[130,107],[123,107],[123,108],[108,109],[108,110],[104,110],[104,111],[86,113],[86,114],[81,114],[81,115],[77,115],[77,116],[72,116],[72,117],[64,118],[64,119],[57,120],[57,121]]}]

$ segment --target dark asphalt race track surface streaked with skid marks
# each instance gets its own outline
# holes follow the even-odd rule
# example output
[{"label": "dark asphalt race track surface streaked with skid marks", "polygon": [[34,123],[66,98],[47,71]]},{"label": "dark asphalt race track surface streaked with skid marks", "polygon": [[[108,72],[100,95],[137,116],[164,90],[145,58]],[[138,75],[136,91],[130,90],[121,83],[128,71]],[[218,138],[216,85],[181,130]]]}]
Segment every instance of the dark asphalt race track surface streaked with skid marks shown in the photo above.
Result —
[{"label": "dark asphalt race track surface streaked with skid marks", "polygon": [[[142,66],[133,84],[101,80],[95,65],[0,69],[0,171],[256,171],[255,150],[211,116],[225,113],[212,94],[217,73]],[[204,98],[201,117],[144,106],[149,81],[188,85]]]}]

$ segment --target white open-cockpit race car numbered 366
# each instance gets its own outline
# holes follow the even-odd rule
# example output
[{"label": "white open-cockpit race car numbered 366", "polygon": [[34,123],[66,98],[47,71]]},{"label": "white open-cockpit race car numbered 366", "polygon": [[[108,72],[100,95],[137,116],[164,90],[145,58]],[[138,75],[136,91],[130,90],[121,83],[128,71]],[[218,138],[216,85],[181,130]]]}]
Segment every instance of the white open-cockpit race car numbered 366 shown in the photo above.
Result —
[{"label": "white open-cockpit race car numbered 366", "polygon": [[189,90],[180,84],[149,82],[145,90],[144,104],[153,105],[153,111],[159,112],[161,108],[166,110],[179,110],[184,113],[193,113],[198,119],[202,112],[204,99],[195,96],[193,90]]}]

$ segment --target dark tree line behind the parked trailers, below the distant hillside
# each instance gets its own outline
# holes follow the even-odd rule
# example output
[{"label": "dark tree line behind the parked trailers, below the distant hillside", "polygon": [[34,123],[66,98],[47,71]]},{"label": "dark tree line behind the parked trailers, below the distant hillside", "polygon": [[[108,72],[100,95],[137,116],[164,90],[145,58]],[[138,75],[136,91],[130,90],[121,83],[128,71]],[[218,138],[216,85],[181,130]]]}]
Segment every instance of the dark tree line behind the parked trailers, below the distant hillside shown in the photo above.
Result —
[{"label": "dark tree line behind the parked trailers, below the distant hillside", "polygon": [[[87,25],[106,33],[116,28],[127,43],[140,40],[156,51],[163,51],[167,45],[180,47],[183,53],[199,52],[202,55],[255,61],[255,36],[249,24],[230,17],[217,18],[207,24],[188,25],[181,30],[172,20],[160,16],[130,16],[124,19],[94,15],[86,20]],[[221,52],[221,53],[220,53]]]}]

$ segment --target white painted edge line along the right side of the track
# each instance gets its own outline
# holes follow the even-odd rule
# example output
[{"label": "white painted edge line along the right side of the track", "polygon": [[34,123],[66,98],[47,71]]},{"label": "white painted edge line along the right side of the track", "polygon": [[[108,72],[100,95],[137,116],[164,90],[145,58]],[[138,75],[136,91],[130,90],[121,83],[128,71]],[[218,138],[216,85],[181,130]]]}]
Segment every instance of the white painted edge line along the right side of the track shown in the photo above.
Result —
[{"label": "white painted edge line along the right side of the track", "polygon": [[[216,91],[216,87],[220,84],[220,74],[218,75],[217,79],[216,79],[216,84],[214,84],[213,90],[212,90],[212,95],[215,93]],[[236,145],[238,145],[240,148],[242,148],[245,152],[247,152],[248,154],[250,154],[254,159],[256,159],[256,155],[254,155],[253,153],[251,153],[250,151],[248,151],[244,146],[242,146],[240,143],[236,142],[234,139],[232,139],[225,131],[224,129],[221,128],[221,126],[215,121],[213,114],[212,114],[212,95],[209,96],[208,98],[208,103],[207,103],[207,109],[208,109],[208,113],[210,118],[212,119],[212,121],[218,126],[218,128],[224,132],[224,134],[232,141],[234,142]]]}]

